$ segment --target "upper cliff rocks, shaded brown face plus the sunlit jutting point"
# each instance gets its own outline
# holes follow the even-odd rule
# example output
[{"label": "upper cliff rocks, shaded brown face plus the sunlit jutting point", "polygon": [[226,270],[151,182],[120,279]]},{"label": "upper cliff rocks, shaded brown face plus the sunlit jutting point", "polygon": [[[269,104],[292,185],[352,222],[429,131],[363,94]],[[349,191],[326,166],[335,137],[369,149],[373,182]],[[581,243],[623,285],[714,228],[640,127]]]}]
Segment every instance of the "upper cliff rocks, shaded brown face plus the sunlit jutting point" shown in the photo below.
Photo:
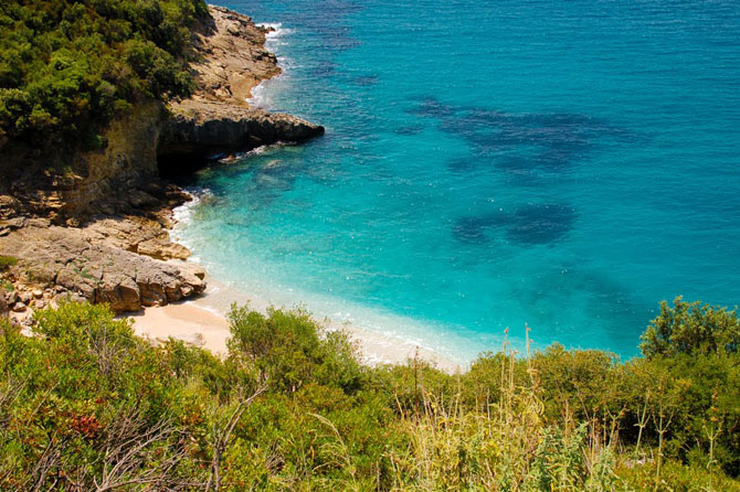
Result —
[{"label": "upper cliff rocks, shaded brown face plus the sunlit jutting point", "polygon": [[128,214],[157,203],[161,171],[190,171],[216,152],[302,142],[324,128],[249,106],[250,92],[279,74],[265,30],[220,7],[197,29],[191,63],[195,94],[167,107],[141,101],[105,130],[105,147],[73,156],[4,142],[0,147],[0,220],[17,215],[77,225],[91,215]]}]

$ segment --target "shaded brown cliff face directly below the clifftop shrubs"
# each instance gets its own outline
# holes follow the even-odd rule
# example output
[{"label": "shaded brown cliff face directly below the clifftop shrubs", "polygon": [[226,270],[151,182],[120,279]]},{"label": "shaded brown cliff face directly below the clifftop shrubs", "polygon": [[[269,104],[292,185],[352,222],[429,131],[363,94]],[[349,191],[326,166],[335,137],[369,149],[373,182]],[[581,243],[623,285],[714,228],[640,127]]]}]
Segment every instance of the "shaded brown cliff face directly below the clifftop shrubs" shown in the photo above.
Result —
[{"label": "shaded brown cliff face directly below the clifftop shrubs", "polygon": [[55,223],[131,207],[129,194],[157,177],[159,103],[140,103],[103,131],[102,149],[62,156],[8,143],[0,149],[0,218],[39,215]]}]

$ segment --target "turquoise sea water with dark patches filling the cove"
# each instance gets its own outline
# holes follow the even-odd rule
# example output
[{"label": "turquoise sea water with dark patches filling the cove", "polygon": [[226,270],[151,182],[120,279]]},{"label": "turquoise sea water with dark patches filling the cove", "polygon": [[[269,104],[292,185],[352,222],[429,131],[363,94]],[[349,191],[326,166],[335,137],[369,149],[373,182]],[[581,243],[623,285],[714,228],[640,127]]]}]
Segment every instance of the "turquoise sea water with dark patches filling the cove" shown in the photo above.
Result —
[{"label": "turquoise sea water with dark patches filling the cove", "polygon": [[662,299],[740,299],[737,1],[232,1],[327,127],[205,170],[218,278],[408,335],[632,356]]}]

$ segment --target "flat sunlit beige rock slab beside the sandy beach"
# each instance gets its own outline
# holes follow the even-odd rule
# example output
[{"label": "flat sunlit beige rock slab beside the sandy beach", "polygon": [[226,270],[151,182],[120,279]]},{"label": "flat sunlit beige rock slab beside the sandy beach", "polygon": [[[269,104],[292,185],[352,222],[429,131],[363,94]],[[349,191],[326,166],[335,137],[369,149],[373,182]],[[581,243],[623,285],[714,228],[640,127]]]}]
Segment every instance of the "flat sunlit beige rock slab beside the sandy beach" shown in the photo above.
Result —
[{"label": "flat sunlit beige rock slab beside the sandy beach", "polygon": [[107,302],[116,312],[163,306],[205,289],[195,265],[128,252],[85,229],[31,224],[0,237],[0,255],[10,254],[21,259],[13,267],[18,280],[61,287],[89,302]]}]

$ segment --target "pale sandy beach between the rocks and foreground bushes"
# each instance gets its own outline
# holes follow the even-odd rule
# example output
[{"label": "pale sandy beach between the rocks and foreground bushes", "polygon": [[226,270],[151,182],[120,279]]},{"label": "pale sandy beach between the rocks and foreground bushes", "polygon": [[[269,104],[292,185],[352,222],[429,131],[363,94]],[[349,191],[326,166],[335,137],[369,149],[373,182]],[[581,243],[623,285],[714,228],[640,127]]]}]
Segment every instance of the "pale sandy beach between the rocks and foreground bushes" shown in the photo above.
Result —
[{"label": "pale sandy beach between the rocks and foreground bushes", "polygon": [[[155,341],[171,336],[224,355],[230,336],[226,313],[231,304],[249,303],[252,309],[265,312],[271,303],[246,296],[211,277],[207,277],[207,280],[209,287],[205,293],[195,299],[147,308],[140,313],[129,315],[136,333]],[[356,324],[335,322],[328,318],[317,321],[326,330],[346,330],[358,342],[362,360],[368,364],[405,363],[419,356],[448,373],[463,370],[459,364],[440,353],[400,336],[366,330]]]}]

